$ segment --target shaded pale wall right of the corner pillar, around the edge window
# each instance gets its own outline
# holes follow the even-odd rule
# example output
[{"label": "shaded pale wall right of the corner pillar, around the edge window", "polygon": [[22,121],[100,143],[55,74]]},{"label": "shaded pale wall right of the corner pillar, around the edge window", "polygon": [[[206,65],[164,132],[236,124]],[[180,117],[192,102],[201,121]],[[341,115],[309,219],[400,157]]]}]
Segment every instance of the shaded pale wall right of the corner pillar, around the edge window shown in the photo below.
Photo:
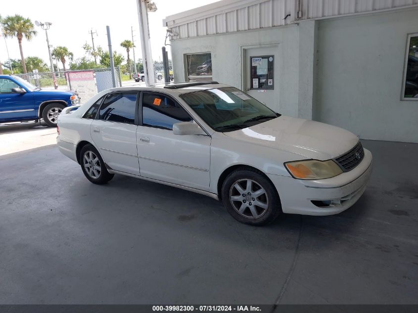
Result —
[{"label": "shaded pale wall right of the corner pillar, around the edge window", "polygon": [[361,138],[418,142],[418,101],[402,101],[407,34],[418,9],[322,20],[313,118]]}]

